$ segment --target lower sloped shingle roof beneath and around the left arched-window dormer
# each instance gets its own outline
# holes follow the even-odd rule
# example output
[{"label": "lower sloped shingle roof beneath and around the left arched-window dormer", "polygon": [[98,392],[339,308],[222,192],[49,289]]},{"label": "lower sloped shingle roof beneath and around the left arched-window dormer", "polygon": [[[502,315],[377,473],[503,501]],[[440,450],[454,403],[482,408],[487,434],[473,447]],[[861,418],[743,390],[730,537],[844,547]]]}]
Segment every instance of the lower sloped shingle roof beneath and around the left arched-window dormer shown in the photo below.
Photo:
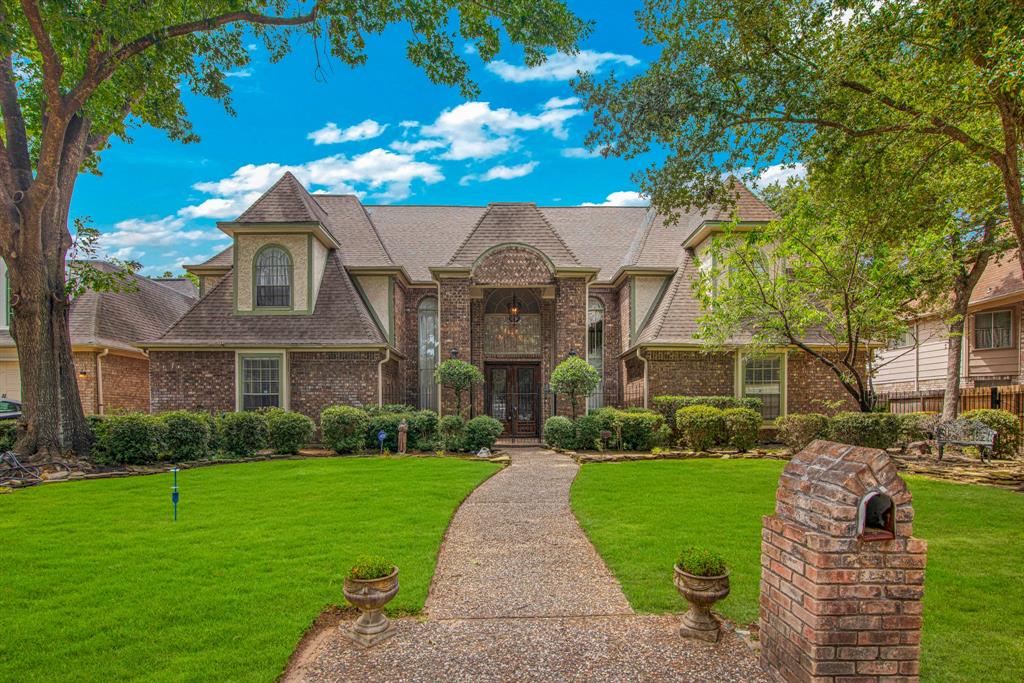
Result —
[{"label": "lower sloped shingle roof beneath and around the left arched-window dormer", "polygon": [[146,346],[346,346],[386,340],[362,305],[336,252],[328,255],[310,314],[238,315],[233,279],[226,275],[163,336]]}]

